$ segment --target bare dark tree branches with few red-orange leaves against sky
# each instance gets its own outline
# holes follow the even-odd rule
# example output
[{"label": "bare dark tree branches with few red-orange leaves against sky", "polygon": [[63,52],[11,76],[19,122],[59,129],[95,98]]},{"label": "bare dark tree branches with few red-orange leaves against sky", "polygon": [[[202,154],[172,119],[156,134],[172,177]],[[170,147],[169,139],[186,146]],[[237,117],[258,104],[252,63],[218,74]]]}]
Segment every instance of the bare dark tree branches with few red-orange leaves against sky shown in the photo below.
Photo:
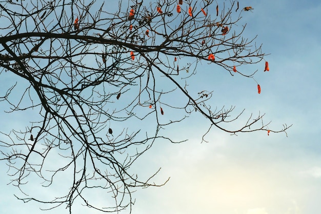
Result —
[{"label": "bare dark tree branches with few red-orange leaves against sky", "polygon": [[[0,101],[9,113],[35,115],[25,130],[1,132],[0,159],[23,192],[35,177],[49,187],[63,175],[69,186],[55,198],[32,192],[18,198],[49,209],[67,204],[70,213],[75,199],[105,212],[130,209],[135,188],[166,183],[153,182],[157,170],[142,179],[131,165],[157,139],[187,140],[174,141],[162,130],[191,114],[208,121],[201,141],[213,128],[286,133],[290,126],[270,129],[264,114],[239,121],[244,111],[213,107],[213,91],[189,87],[195,75],[208,78],[200,72],[206,67],[251,78],[260,93],[257,70],[243,68],[260,63],[263,72],[269,65],[255,37],[243,37],[246,24],[239,23],[253,9],[243,4],[0,1],[0,74],[16,81]],[[114,204],[96,205],[90,191],[104,192]]]}]

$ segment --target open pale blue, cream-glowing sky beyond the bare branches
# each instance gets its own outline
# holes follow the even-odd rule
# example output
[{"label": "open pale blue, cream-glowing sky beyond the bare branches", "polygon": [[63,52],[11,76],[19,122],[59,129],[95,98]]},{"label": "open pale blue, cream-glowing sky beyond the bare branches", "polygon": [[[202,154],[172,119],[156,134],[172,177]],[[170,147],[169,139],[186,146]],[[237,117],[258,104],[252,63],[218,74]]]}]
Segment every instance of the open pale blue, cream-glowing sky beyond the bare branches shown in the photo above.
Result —
[{"label": "open pale blue, cream-glowing sky beyond the bare branches", "polygon": [[[136,202],[132,213],[321,211],[321,2],[249,0],[246,4],[254,9],[242,13],[242,22],[247,23],[244,36],[258,35],[256,41],[263,44],[264,52],[270,53],[265,57],[270,71],[255,76],[262,93],[252,92],[252,80],[239,81],[228,74],[220,75],[215,84],[214,80],[206,81],[204,87],[213,88],[219,105],[234,104],[236,110],[245,108],[248,114],[265,112],[273,127],[293,124],[288,137],[284,133],[268,136],[266,132],[235,136],[212,129],[206,137],[208,143],[200,143],[208,126],[191,116],[175,130],[168,130],[174,138],[189,139],[187,142],[156,142],[136,163],[137,172],[143,175],[162,167],[156,181],[163,182],[168,177],[170,180],[162,187],[138,189],[133,194]],[[253,66],[262,70],[261,65]],[[222,88],[230,90],[219,91]],[[21,116],[8,116],[1,110],[0,118],[5,118],[0,122],[1,129],[10,128],[7,121],[18,124]],[[63,213],[64,208],[41,211],[39,204],[16,200],[13,194],[19,191],[7,185],[7,167],[4,162],[0,165],[1,213]],[[75,210],[98,213],[82,206]]]}]

